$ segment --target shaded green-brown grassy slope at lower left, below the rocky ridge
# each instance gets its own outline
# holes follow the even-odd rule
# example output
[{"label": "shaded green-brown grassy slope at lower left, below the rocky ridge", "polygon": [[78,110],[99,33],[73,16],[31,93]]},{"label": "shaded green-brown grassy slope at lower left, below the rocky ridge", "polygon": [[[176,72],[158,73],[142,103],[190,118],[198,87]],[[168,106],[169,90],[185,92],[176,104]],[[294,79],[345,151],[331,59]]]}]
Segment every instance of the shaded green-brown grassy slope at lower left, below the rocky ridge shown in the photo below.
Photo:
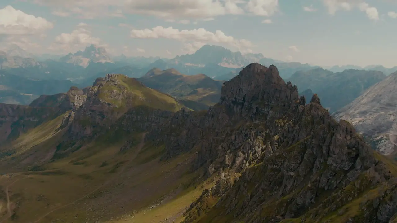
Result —
[{"label": "shaded green-brown grassy slope at lower left, below the rocky ridge", "polygon": [[[195,189],[192,184],[197,173],[188,174],[187,169],[194,152],[162,162],[162,146],[146,142],[138,151],[141,133],[117,141],[105,135],[66,158],[42,165],[33,162],[36,156],[53,154],[64,134],[59,130],[61,121],[60,116],[21,135],[13,144],[18,155],[0,160],[0,170],[7,173],[0,177],[4,192],[0,222],[126,222],[131,216],[139,219],[136,222],[152,222],[153,217],[180,216],[209,185]],[[136,143],[119,152],[127,139]],[[8,168],[16,160],[28,163],[29,169],[11,172]],[[6,190],[12,217],[7,213]],[[157,207],[147,210],[153,205]]]}]

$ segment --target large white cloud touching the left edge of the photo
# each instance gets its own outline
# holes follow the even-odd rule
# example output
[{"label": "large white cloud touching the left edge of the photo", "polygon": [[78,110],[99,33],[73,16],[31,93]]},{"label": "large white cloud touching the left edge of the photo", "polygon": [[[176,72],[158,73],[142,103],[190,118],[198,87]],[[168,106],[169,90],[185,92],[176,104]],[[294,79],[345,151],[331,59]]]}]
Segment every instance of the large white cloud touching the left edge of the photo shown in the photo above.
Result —
[{"label": "large white cloud touching the left edge of the photo", "polygon": [[0,35],[31,35],[53,27],[46,19],[26,14],[12,6],[0,9]]}]

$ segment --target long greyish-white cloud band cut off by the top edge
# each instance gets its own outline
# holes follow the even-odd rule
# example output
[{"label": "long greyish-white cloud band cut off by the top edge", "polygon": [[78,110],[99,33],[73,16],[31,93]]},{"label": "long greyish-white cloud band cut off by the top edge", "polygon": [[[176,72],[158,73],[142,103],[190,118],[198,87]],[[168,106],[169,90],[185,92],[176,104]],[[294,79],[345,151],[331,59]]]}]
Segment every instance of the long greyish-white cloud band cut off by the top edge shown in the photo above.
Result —
[{"label": "long greyish-white cloud band cut off by the top edge", "polygon": [[153,15],[166,19],[202,19],[250,13],[271,16],[278,0],[29,0],[50,6],[59,16],[79,14],[86,18],[122,16],[123,13]]}]

